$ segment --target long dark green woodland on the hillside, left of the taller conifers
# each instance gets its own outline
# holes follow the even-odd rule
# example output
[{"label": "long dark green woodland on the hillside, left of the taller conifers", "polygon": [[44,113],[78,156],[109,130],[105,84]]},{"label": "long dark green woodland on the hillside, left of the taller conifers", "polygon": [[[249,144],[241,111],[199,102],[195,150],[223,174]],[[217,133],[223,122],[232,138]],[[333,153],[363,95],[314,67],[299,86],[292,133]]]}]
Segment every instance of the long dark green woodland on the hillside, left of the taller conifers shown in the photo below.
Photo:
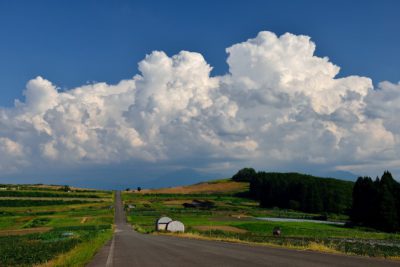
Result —
[{"label": "long dark green woodland on the hillside, left of the taller conifers", "polygon": [[351,208],[353,184],[300,173],[258,172],[250,179],[250,196],[262,207],[346,213]]}]

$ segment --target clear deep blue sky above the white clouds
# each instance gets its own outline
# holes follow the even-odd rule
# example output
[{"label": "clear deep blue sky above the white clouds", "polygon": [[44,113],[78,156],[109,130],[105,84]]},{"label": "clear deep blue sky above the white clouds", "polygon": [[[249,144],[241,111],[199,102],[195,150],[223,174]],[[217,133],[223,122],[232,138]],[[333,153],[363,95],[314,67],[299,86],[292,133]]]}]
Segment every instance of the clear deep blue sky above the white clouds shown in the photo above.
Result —
[{"label": "clear deep blue sky above the white clouds", "polygon": [[398,1],[1,1],[0,104],[42,75],[61,88],[130,78],[153,50],[200,52],[227,71],[225,48],[269,30],[312,37],[342,76],[399,80]]}]

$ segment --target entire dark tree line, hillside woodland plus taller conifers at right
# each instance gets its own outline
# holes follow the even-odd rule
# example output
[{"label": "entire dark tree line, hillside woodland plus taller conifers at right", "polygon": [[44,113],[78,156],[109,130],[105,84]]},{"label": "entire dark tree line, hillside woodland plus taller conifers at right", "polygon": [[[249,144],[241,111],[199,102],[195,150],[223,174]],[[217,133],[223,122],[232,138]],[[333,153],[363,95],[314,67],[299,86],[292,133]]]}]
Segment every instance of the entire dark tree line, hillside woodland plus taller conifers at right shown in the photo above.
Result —
[{"label": "entire dark tree line, hillside woodland plus taller conifers at right", "polygon": [[266,208],[348,214],[356,225],[400,231],[400,184],[385,171],[356,183],[300,173],[238,171],[232,180],[250,183],[250,197]]}]

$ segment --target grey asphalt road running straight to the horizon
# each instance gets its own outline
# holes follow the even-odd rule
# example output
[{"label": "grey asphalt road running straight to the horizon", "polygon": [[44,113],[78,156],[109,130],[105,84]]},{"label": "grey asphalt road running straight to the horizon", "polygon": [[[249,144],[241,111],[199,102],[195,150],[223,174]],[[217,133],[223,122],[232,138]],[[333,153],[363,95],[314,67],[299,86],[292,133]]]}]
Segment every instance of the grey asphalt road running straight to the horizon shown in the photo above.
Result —
[{"label": "grey asphalt road running straight to the horizon", "polygon": [[400,262],[283,248],[143,235],[126,223],[120,192],[116,194],[113,239],[92,266],[400,266]]}]

